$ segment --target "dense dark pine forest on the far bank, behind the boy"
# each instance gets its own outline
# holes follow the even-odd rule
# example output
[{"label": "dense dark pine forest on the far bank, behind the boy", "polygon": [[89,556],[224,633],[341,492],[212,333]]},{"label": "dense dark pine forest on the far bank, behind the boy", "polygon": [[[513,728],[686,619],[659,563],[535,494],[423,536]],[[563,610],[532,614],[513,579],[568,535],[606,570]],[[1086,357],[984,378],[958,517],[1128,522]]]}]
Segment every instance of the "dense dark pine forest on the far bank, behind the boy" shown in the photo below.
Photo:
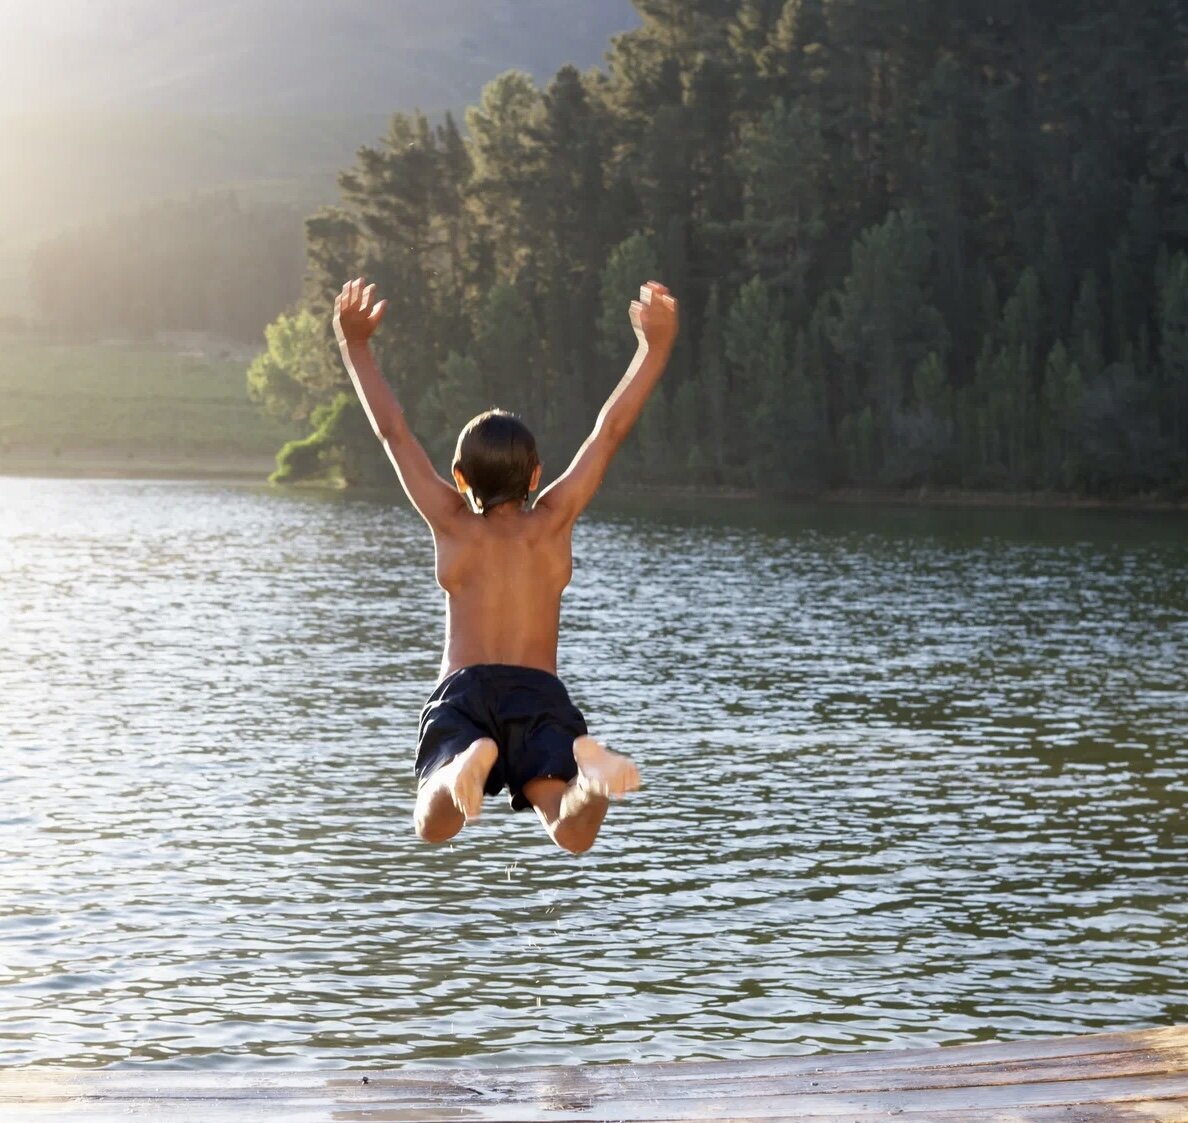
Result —
[{"label": "dense dark pine forest on the far bank, behind the boy", "polygon": [[1180,0],[636,0],[605,69],[504,74],[465,128],[397,114],[308,219],[249,372],[309,428],[278,477],[386,472],[330,334],[442,467],[492,404],[560,471],[681,298],[620,484],[1188,492]]}]

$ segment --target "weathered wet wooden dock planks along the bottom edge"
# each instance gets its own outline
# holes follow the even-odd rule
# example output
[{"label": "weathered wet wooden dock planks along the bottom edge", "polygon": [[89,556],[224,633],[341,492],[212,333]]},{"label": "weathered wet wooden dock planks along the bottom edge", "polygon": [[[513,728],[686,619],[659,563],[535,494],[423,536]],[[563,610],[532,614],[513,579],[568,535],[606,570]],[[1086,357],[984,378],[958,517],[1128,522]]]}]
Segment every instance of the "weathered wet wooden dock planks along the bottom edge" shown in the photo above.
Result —
[{"label": "weathered wet wooden dock planks along the bottom edge", "polygon": [[0,1070],[0,1121],[26,1119],[1188,1123],[1188,1026],[752,1061],[264,1073]]}]

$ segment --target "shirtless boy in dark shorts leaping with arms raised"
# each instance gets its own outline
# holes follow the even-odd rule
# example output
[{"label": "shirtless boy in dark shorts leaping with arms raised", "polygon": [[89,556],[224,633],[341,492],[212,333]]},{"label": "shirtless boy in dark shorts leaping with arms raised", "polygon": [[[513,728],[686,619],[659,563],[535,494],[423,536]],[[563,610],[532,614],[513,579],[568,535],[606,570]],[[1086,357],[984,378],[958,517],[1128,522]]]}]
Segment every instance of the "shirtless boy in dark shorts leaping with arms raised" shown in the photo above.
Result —
[{"label": "shirtless boy in dark shorts leaping with arms raised", "polygon": [[574,523],[668,364],[676,301],[656,282],[640,289],[628,309],[639,346],[626,374],[573,462],[531,505],[536,441],[501,410],[462,429],[455,486],[434,469],[368,345],[386,307],[374,285],[350,280],[334,302],[334,330],[372,429],[432,531],[446,591],[446,652],[417,744],[417,833],[428,843],[453,838],[479,818],[484,794],[506,787],[513,808],[536,808],[549,837],[581,853],[608,801],[637,789],[639,772],[588,736],[557,679],[561,594],[573,574]]}]

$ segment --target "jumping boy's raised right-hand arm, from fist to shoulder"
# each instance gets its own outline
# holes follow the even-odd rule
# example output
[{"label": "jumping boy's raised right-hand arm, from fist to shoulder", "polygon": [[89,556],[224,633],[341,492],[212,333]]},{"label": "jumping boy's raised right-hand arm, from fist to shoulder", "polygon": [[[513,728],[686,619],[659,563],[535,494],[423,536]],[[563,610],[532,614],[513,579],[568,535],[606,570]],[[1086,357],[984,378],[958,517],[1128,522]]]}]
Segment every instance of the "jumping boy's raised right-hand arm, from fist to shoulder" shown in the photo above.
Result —
[{"label": "jumping boy's raised right-hand arm, from fist to shoulder", "polygon": [[631,324],[639,347],[627,373],[606,399],[594,431],[577,450],[569,467],[536,500],[538,507],[576,519],[594,498],[602,477],[643,412],[644,404],[668,365],[677,333],[677,303],[664,285],[649,280],[631,302]]}]

